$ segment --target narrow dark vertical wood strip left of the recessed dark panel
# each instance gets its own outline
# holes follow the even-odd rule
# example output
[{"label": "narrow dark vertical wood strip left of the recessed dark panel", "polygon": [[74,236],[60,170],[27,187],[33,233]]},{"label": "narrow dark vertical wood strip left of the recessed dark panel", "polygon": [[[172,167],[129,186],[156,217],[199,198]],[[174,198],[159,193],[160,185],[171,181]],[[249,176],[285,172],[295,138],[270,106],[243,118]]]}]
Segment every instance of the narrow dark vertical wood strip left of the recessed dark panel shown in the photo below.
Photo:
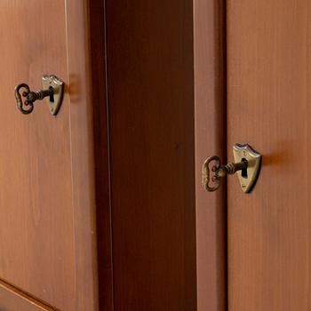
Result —
[{"label": "narrow dark vertical wood strip left of the recessed dark panel", "polygon": [[105,0],[90,2],[100,310],[114,309]]}]

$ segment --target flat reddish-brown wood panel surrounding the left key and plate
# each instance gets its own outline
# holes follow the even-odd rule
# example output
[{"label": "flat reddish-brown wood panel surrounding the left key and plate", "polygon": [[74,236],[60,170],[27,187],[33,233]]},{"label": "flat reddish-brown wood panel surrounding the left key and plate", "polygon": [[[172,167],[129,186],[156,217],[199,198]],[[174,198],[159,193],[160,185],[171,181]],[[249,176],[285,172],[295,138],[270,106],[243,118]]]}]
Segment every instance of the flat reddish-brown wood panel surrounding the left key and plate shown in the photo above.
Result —
[{"label": "flat reddish-brown wood panel surrounding the left key and plate", "polygon": [[[46,11],[58,25],[53,31],[38,27],[45,24]],[[36,19],[25,12],[36,12]],[[12,96],[21,82],[40,88],[45,73],[55,73],[68,84],[64,1],[4,1],[0,20],[5,46],[0,58],[0,276],[52,306],[72,310],[74,302],[68,297],[75,291],[75,244],[68,92],[57,117],[45,102],[37,102],[34,113],[23,116]]]}]

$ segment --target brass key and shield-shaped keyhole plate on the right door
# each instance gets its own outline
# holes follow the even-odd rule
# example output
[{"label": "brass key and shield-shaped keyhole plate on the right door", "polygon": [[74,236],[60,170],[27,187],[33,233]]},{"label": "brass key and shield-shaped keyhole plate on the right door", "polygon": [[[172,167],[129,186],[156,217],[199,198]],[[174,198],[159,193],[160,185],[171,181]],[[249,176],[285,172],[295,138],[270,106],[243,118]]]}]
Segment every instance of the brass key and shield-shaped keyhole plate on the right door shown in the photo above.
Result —
[{"label": "brass key and shield-shaped keyhole plate on the right door", "polygon": [[[261,156],[250,145],[235,144],[233,147],[235,163],[220,164],[219,156],[210,156],[203,163],[203,187],[207,191],[215,191],[220,187],[221,178],[237,173],[244,193],[251,192],[259,176]],[[211,171],[214,175],[211,177]],[[210,185],[212,183],[212,185]]]}]

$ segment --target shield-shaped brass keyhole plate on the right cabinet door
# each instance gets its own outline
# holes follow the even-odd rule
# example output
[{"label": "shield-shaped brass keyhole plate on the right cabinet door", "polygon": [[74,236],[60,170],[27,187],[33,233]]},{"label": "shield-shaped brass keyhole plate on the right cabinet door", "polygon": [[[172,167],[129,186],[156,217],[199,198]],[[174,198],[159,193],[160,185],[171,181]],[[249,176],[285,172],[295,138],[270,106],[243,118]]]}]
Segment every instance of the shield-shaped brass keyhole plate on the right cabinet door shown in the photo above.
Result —
[{"label": "shield-shaped brass keyhole plate on the right cabinet door", "polygon": [[247,169],[236,171],[236,174],[243,192],[250,193],[259,177],[261,155],[248,144],[236,144],[233,147],[233,154],[235,157],[235,163],[247,160]]}]

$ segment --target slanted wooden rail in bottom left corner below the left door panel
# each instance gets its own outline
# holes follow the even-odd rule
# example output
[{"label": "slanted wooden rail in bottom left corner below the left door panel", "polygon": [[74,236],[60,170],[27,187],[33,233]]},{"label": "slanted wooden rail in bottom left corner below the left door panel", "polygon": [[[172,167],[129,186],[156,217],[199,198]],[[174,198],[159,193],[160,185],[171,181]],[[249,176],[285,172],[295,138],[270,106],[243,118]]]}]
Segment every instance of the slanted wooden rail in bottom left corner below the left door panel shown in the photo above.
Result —
[{"label": "slanted wooden rail in bottom left corner below the left door panel", "polygon": [[3,281],[0,281],[0,299],[4,311],[57,311]]}]

